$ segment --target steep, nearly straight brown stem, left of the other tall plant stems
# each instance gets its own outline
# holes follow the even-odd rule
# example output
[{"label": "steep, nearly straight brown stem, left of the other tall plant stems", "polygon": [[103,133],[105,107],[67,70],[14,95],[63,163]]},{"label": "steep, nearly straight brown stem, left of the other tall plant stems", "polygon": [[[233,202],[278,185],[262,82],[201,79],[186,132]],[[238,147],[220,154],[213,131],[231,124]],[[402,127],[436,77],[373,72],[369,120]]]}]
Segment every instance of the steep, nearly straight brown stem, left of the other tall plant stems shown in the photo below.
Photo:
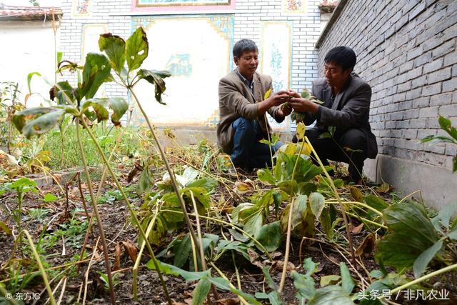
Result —
[{"label": "steep, nearly straight brown stem, left of the other tall plant stems", "polygon": [[[101,239],[101,244],[103,245],[103,251],[105,256],[105,266],[106,266],[106,276],[108,277],[109,283],[109,294],[111,296],[111,304],[116,304],[116,295],[114,294],[114,285],[113,277],[111,276],[111,265],[109,263],[109,253],[108,246],[106,246],[105,233],[103,230],[103,224],[101,223],[99,209],[97,208],[97,201],[94,196],[94,190],[92,189],[91,176],[89,175],[89,169],[87,168],[86,153],[84,152],[83,142],[81,141],[81,126],[79,126],[79,121],[84,121],[84,119],[76,120],[76,139],[78,139],[79,152],[81,154],[81,161],[84,168],[84,174],[86,175],[87,187],[89,189],[89,194],[91,196],[92,207],[94,209],[95,218],[97,220],[97,226],[99,226],[99,234]],[[89,224],[90,226],[91,224]]]}]

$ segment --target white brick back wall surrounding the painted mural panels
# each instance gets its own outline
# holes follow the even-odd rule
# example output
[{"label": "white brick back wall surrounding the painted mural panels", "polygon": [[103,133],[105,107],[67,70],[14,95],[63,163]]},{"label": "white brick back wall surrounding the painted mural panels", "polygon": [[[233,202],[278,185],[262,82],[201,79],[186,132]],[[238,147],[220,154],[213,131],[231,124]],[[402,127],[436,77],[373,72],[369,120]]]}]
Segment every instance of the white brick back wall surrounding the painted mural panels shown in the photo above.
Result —
[{"label": "white brick back wall surrounding the painted mural panels", "polygon": [[[109,31],[126,39],[131,33],[131,1],[92,0],[92,14],[81,18],[72,16],[71,0],[62,1],[64,19],[61,24],[61,50],[64,59],[81,62],[81,35],[84,24],[107,24]],[[261,49],[261,24],[263,21],[289,21],[292,24],[291,88],[311,88],[317,77],[317,51],[314,44],[320,34],[321,14],[319,0],[309,0],[306,16],[283,14],[282,0],[237,0],[234,14],[234,41],[249,38]],[[144,14],[154,14],[153,11]],[[161,14],[164,14],[161,12]],[[211,46],[211,41],[209,41]],[[261,50],[259,50],[261,51]],[[75,82],[76,76],[64,74],[61,79]],[[126,96],[126,91],[115,84],[106,84],[108,96]]]}]

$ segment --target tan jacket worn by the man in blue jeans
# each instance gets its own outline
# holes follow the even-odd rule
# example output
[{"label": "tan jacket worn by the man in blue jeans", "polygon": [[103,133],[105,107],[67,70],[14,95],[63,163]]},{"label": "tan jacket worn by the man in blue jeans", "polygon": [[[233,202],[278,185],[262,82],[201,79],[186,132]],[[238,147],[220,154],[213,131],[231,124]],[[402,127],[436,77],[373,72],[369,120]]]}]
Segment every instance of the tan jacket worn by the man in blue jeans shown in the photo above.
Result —
[{"label": "tan jacket worn by the man in blue jeans", "polygon": [[[256,72],[253,78],[253,94],[235,70],[219,81],[220,120],[217,125],[217,142],[226,154],[231,154],[231,150],[233,149],[234,131],[231,124],[240,117],[256,119],[261,129],[265,132],[265,136],[267,130],[271,133],[270,125],[268,122],[267,125],[265,124],[265,114],[258,116],[256,105],[256,102],[263,101],[266,91],[272,87],[271,77]],[[278,107],[271,107],[268,110],[268,114],[273,116],[276,121],[281,122],[283,118],[276,117],[277,110]]]}]

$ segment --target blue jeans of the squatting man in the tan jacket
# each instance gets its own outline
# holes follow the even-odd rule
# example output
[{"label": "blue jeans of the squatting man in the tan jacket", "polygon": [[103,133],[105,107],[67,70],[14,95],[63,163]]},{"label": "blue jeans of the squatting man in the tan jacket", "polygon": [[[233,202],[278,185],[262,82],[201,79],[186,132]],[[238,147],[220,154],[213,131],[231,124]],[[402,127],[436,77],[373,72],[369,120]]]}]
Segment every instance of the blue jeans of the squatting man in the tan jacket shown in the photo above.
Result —
[{"label": "blue jeans of the squatting man in the tan jacket", "polygon": [[[235,166],[245,169],[261,169],[271,166],[270,147],[260,143],[264,133],[257,120],[238,118],[231,124],[233,134],[233,150],[231,161]],[[274,154],[283,144],[281,141],[271,147]]]}]

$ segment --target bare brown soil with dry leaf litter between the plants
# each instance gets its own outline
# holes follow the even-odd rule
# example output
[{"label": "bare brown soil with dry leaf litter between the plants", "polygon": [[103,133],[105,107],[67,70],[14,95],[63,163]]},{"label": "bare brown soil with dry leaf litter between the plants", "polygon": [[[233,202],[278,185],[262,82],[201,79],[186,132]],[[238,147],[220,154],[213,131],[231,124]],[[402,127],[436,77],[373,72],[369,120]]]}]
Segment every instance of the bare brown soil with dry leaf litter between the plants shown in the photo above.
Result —
[{"label": "bare brown soil with dry leaf litter between the plants", "polygon": [[[244,177],[249,178],[249,177]],[[126,181],[126,174],[121,176],[121,183],[124,186],[131,186],[131,189],[134,189],[136,184],[136,180],[138,176],[131,181]],[[82,190],[84,192],[84,196],[87,199],[89,197],[89,191],[86,184],[82,184]],[[99,183],[95,182],[93,184],[94,189],[98,189]],[[65,186],[63,186],[65,188]],[[104,186],[104,190],[101,191],[101,194],[106,194],[107,191],[114,189],[114,184],[112,181],[108,181],[108,184]],[[212,195],[212,199],[215,202],[218,202],[221,194],[224,194],[224,188],[219,186],[216,193]],[[59,197],[59,200],[54,202],[44,202],[41,198],[44,194],[55,194]],[[229,199],[229,204],[235,206],[238,204],[238,199],[233,199],[233,197],[229,196],[229,194],[224,194]],[[244,197],[249,196],[249,194],[243,194]],[[141,198],[134,195],[134,192],[131,194],[131,204],[139,209],[141,206]],[[8,217],[7,211],[11,211],[11,209],[15,208],[16,205],[16,194],[8,193],[5,194],[1,199],[1,204],[5,207],[5,209],[0,210],[0,221],[4,221],[6,224],[9,224],[11,229],[17,234],[17,228],[14,227],[14,221],[11,217]],[[247,200],[246,200],[247,201]],[[49,212],[46,216],[41,218],[33,218],[30,216],[30,211],[33,209],[49,209]],[[91,206],[88,205],[89,214],[91,213],[92,209]],[[76,212],[75,212],[76,211]],[[125,246],[123,246],[123,242],[126,244],[134,244],[136,245],[136,239],[138,236],[138,230],[132,226],[129,216],[129,210],[127,209],[126,205],[121,199],[111,199],[105,202],[101,202],[99,204],[99,214],[101,216],[101,220],[104,224],[104,231],[106,235],[107,246],[109,248],[109,256],[111,259],[111,266],[114,267],[114,273],[117,274],[116,279],[116,286],[115,286],[115,293],[116,293],[116,303],[117,304],[161,304],[166,302],[164,292],[161,289],[161,284],[159,281],[159,277],[157,276],[155,271],[151,271],[146,268],[145,264],[149,261],[149,256],[144,254],[143,259],[141,260],[141,268],[139,270],[138,276],[138,298],[134,300],[134,296],[132,295],[132,272],[131,268],[134,265],[131,257],[129,256],[128,251],[126,251]],[[66,224],[69,224],[70,220],[77,220],[79,221],[76,224],[76,229],[78,226],[82,226],[82,224],[87,224],[87,216],[84,212],[84,206],[81,201],[81,196],[79,194],[79,188],[76,181],[71,182],[68,185],[68,201],[66,201],[65,192],[59,188],[59,186],[52,185],[46,186],[39,190],[39,194],[27,193],[24,196],[24,203],[23,203],[23,212],[22,212],[22,224],[23,229],[27,229],[31,236],[34,239],[34,243],[37,243],[39,240],[40,234],[52,234],[54,231],[61,229]],[[354,226],[357,223],[354,222]],[[68,226],[66,226],[68,228]],[[74,229],[74,230],[76,230]],[[55,271],[52,273],[54,275],[54,279],[49,276],[51,281],[51,286],[55,286],[58,281],[62,279],[61,274],[59,271],[64,271],[64,276],[66,277],[66,283],[64,288],[64,293],[62,294],[61,304],[75,304],[76,302],[82,303],[82,299],[84,297],[84,284],[87,283],[87,293],[86,299],[91,304],[109,304],[109,290],[106,289],[104,282],[101,280],[99,273],[97,271],[101,271],[102,273],[106,273],[106,269],[104,266],[104,259],[103,259],[103,249],[101,248],[101,243],[99,243],[96,251],[96,256],[94,258],[93,263],[89,267],[89,259],[91,255],[94,254],[94,247],[98,240],[98,229],[96,226],[96,222],[92,226],[92,233],[89,234],[89,239],[87,241],[87,259],[84,263],[79,264],[79,270],[76,269],[76,265],[72,269],[62,268],[61,266],[65,264],[69,264],[69,262],[74,261],[72,257],[76,254],[81,253],[81,247],[84,244],[84,234],[86,230],[81,230],[79,234],[72,234],[71,236],[61,236],[61,238],[55,241],[54,246],[50,249],[46,249],[46,252],[42,254],[47,264],[49,266],[59,267],[56,268]],[[214,226],[213,226],[213,229]],[[220,234],[220,228],[216,228],[216,233]],[[77,231],[77,230],[76,230]],[[355,230],[357,231],[357,230]],[[68,229],[67,229],[68,232]],[[226,231],[228,232],[228,231]],[[171,239],[176,236],[177,234],[185,233],[184,229],[174,232],[174,234],[169,235],[168,239]],[[356,247],[358,247],[365,236],[368,233],[366,231],[360,231],[353,234],[353,242]],[[283,247],[285,247],[285,242],[282,243]],[[7,269],[4,269],[6,263],[14,257],[15,259],[21,258],[20,251],[16,251],[12,254],[12,250],[14,249],[14,236],[7,235],[4,233],[0,233],[0,262],[1,262],[1,271],[0,271],[0,281],[5,281],[9,279],[13,274],[9,272]],[[116,249],[117,246],[117,249]],[[341,243],[341,246],[347,248],[347,244]],[[271,264],[267,262],[266,257],[259,257],[258,262],[264,263],[270,269],[270,274],[273,280],[278,284],[281,279],[281,272],[282,272],[282,264],[283,261],[283,254],[285,252],[284,248],[280,248],[273,253],[274,262]],[[161,251],[161,249],[154,249],[156,253]],[[147,251],[144,251],[146,253]],[[30,253],[25,254],[30,255]],[[296,270],[299,273],[304,273],[301,264],[304,259],[311,257],[314,262],[319,263],[318,265],[318,272],[313,275],[314,279],[316,280],[316,287],[319,286],[319,279],[321,276],[324,275],[331,275],[340,273],[339,262],[343,261],[348,265],[350,262],[350,256],[341,253],[338,251],[335,246],[327,244],[327,241],[323,239],[323,236],[319,234],[316,236],[316,241],[306,241],[302,242],[301,239],[292,239],[291,240],[291,255],[290,255],[290,270]],[[27,256],[26,259],[22,260],[21,272],[26,272],[29,269],[29,266],[34,266],[31,264],[33,262],[33,257]],[[358,274],[352,272],[353,279],[358,282],[359,274],[363,276],[365,279],[368,279],[367,271],[371,271],[373,269],[378,269],[376,262],[373,259],[373,251],[370,253],[362,255],[361,260],[363,261],[363,265],[365,270],[358,266]],[[165,261],[169,264],[173,263],[171,261]],[[241,281],[241,290],[254,295],[256,292],[261,291],[271,291],[268,288],[266,282],[264,281],[264,276],[262,270],[256,266],[255,264],[251,264],[251,262],[243,259],[241,255],[236,255],[236,264],[238,266],[238,270],[240,273],[240,281]],[[227,254],[226,256],[222,257],[217,261],[216,265],[219,269],[225,274],[225,276],[231,280],[232,284],[236,286],[236,273],[235,268],[233,265],[233,261],[231,256]],[[70,267],[71,268],[71,267]],[[29,270],[30,271],[30,270]],[[213,269],[213,275],[219,276]],[[87,276],[87,281],[86,281]],[[169,289],[169,294],[173,301],[176,304],[191,304],[192,299],[192,291],[195,289],[196,282],[189,282],[185,281],[181,277],[178,276],[164,276],[166,281],[166,285]],[[446,279],[434,279],[435,283],[438,282],[437,286],[444,287],[451,291],[451,296],[454,298],[449,302],[441,301],[440,303],[433,303],[429,302],[428,304],[457,304],[457,299],[455,299],[456,294],[456,287],[450,286],[452,281],[446,281]],[[455,282],[455,281],[454,281]],[[13,288],[17,289],[17,286]],[[19,285],[18,283],[17,285]],[[56,299],[61,294],[61,287],[56,291],[54,296]],[[11,288],[11,286],[10,286]],[[40,276],[32,279],[29,284],[25,287],[21,288],[21,294],[26,293],[38,293],[39,299],[38,300],[31,300],[25,301],[26,304],[44,304],[44,301],[47,298],[46,291],[44,289],[43,282],[41,281]],[[293,281],[290,276],[286,279],[285,289],[283,291],[283,301],[284,304],[298,304],[296,299],[296,289],[293,286]],[[214,296],[210,293],[211,298],[213,301]],[[219,299],[223,299],[216,304],[238,304],[236,301],[236,296],[226,291],[219,291]],[[399,300],[398,304],[416,304],[411,302],[406,302],[404,300]]]}]

